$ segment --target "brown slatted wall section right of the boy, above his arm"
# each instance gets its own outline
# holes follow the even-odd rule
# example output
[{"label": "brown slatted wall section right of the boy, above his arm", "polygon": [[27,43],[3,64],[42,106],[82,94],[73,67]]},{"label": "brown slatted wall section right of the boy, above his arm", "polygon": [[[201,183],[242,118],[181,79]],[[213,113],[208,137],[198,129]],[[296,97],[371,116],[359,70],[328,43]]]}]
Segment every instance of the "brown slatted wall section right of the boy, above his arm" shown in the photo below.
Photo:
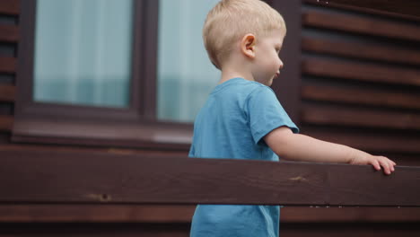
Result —
[{"label": "brown slatted wall section right of the boy, above his arm", "polygon": [[420,26],[302,5],[302,132],[420,164]]}]

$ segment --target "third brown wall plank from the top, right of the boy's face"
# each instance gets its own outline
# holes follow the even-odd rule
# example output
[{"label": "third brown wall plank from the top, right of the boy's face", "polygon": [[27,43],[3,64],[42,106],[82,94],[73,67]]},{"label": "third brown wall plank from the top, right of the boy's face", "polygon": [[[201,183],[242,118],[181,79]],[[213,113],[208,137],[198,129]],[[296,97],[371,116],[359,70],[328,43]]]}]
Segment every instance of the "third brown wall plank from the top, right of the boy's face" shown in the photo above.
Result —
[{"label": "third brown wall plank from the top, right of the boy's face", "polygon": [[308,57],[303,59],[302,72],[309,75],[331,76],[367,82],[420,85],[420,70],[324,58]]}]

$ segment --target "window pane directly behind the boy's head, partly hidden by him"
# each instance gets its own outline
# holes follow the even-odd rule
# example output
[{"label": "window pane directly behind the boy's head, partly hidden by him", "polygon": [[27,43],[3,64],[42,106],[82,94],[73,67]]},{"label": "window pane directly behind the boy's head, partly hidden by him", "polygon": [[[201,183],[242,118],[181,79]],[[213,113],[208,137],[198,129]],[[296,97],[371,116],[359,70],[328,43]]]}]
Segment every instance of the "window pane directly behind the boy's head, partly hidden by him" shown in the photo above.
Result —
[{"label": "window pane directly behind the boy's head, partly hidden by him", "polygon": [[202,40],[206,14],[219,0],[160,0],[157,112],[193,121],[220,79]]}]

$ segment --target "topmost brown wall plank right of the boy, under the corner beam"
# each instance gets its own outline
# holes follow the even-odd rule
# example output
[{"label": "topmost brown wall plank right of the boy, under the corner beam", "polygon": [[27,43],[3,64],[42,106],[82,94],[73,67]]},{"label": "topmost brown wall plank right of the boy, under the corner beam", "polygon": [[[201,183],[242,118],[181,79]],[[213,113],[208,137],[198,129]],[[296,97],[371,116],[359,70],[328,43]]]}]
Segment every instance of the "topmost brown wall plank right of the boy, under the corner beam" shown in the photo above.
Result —
[{"label": "topmost brown wall plank right of the boy, under the corner beam", "polygon": [[343,13],[303,12],[302,24],[338,31],[349,31],[402,40],[420,40],[420,26],[381,21]]}]

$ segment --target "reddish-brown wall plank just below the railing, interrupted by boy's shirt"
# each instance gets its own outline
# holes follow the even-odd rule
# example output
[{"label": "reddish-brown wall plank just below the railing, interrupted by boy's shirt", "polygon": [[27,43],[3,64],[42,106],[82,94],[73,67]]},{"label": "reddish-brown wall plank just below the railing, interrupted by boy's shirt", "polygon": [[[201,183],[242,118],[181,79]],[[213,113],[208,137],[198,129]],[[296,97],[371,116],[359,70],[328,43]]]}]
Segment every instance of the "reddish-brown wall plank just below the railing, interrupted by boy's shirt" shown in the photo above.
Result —
[{"label": "reddish-brown wall plank just below the railing, interrupted by boy's shirt", "polygon": [[[196,206],[0,205],[0,223],[190,223]],[[420,222],[416,207],[285,206],[282,223]]]}]

